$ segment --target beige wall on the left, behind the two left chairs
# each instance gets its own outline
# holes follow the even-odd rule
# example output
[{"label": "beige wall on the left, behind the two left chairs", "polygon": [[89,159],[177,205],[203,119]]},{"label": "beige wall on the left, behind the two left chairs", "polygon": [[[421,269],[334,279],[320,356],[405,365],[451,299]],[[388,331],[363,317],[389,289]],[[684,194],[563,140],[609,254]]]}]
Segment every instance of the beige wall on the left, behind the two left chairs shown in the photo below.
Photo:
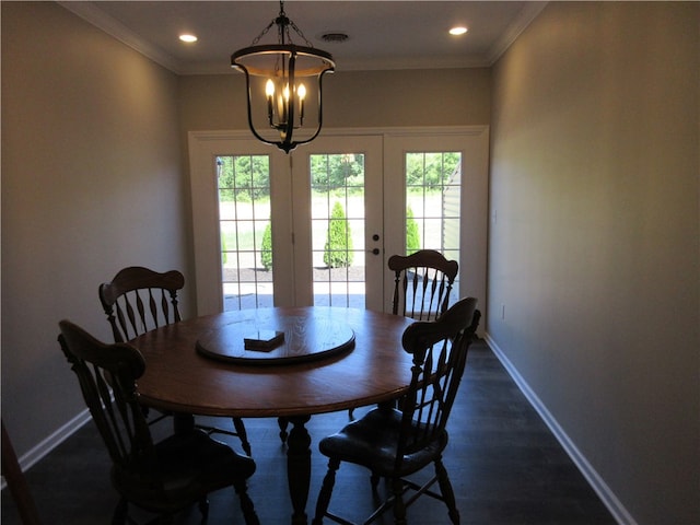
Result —
[{"label": "beige wall on the left, behind the two left chairs", "polygon": [[188,273],[174,74],[49,2],[2,2],[2,419],[18,455],[84,409],[61,318],[97,285]]}]

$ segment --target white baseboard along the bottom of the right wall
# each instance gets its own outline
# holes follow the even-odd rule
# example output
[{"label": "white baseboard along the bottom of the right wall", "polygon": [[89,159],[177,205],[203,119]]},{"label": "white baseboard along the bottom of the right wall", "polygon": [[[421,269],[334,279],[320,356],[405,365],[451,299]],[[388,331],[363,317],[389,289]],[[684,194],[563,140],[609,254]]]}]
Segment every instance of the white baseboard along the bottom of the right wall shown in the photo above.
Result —
[{"label": "white baseboard along the bottom of the right wall", "polygon": [[510,376],[513,378],[517,387],[521,389],[523,395],[527,398],[533,408],[539,413],[539,417],[542,418],[545,424],[549,428],[552,434],[561,446],[564,448],[571,460],[576,465],[581,474],[586,478],[593,490],[598,494],[605,506],[608,508],[617,523],[620,525],[637,525],[637,522],[632,517],[632,515],[625,509],[625,505],[620,502],[620,500],[615,495],[615,493],[610,490],[607,483],[603,480],[603,478],[598,475],[598,472],[593,468],[593,466],[588,463],[585,456],[581,453],[581,451],[576,447],[573,441],[567,435],[564,430],[559,425],[555,417],[547,409],[545,404],[537,397],[537,395],[529,387],[527,382],[523,378],[523,376],[517,372],[513,363],[508,359],[505,353],[499,348],[499,346],[491,339],[489,334],[486,335],[486,340],[489,343],[491,350],[495,357],[501,361],[501,364]]}]

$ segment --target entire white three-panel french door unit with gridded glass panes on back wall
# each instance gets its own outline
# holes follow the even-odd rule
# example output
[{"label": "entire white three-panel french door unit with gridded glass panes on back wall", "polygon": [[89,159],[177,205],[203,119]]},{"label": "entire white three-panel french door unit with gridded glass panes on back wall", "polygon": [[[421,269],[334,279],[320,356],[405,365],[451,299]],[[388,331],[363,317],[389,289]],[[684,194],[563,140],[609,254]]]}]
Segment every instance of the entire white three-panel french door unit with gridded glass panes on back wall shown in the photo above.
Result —
[{"label": "entire white three-panel french door unit with gridded glass panes on back wall", "polygon": [[199,314],[390,311],[386,260],[417,248],[457,259],[455,299],[485,310],[488,128],[327,131],[290,155],[243,132],[189,139]]}]

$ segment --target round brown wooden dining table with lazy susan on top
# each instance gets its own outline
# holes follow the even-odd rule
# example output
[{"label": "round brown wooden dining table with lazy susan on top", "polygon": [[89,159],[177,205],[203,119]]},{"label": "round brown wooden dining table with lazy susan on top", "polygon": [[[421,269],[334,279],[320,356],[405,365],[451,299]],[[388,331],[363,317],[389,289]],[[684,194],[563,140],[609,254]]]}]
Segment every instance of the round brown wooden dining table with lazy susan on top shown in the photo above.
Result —
[{"label": "round brown wooden dining table with lazy susan on top", "polygon": [[362,308],[269,307],[192,317],[132,339],[145,360],[145,406],[199,416],[289,422],[287,472],[293,524],[307,523],[313,415],[401,397],[412,319]]}]

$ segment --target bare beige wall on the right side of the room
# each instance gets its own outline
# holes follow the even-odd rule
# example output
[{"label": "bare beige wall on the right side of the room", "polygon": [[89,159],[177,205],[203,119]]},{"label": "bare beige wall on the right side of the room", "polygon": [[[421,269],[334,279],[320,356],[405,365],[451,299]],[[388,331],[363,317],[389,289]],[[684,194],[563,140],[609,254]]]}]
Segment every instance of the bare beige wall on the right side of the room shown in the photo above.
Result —
[{"label": "bare beige wall on the right side of the room", "polygon": [[490,337],[649,525],[700,523],[699,10],[550,2],[493,73]]}]

